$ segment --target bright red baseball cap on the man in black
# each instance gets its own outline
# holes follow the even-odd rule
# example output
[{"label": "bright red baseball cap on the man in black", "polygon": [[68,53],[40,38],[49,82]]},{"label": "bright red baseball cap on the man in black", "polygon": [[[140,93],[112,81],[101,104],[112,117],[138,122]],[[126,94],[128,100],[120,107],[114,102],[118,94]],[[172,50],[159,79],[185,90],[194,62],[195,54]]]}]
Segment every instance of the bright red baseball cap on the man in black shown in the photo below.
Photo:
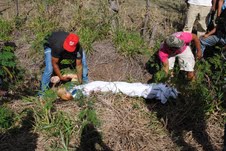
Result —
[{"label": "bright red baseball cap on the man in black", "polygon": [[76,45],[79,42],[79,37],[75,34],[69,34],[64,40],[63,47],[68,52],[73,52],[76,49]]}]

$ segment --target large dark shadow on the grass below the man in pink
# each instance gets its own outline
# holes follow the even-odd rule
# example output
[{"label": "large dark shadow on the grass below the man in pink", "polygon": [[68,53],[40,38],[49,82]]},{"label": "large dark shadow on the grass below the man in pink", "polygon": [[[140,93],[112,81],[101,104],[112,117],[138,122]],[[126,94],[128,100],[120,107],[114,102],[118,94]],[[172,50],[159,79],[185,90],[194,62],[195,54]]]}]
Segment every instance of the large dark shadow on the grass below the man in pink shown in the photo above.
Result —
[{"label": "large dark shadow on the grass below the man in pink", "polygon": [[[193,139],[199,144],[199,147],[202,146],[203,150],[215,150],[206,132],[204,113],[206,104],[204,102],[190,96],[180,96],[178,100],[169,101],[165,105],[149,100],[147,102],[148,109],[157,112],[159,121],[162,121],[172,141],[180,150],[199,150],[200,148],[194,145]],[[186,139],[193,144],[187,143]]]}]

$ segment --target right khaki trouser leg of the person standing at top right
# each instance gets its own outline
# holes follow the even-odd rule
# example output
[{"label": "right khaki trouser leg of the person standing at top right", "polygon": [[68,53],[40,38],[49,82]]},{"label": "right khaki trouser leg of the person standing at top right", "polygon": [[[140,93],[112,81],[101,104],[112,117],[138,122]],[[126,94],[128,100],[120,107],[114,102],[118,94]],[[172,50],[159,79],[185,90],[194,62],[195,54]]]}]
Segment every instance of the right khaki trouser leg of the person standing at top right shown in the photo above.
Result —
[{"label": "right khaki trouser leg of the person standing at top right", "polygon": [[211,11],[211,7],[210,6],[200,6],[200,9],[199,9],[199,20],[198,20],[198,23],[199,23],[199,27],[198,27],[198,37],[204,35],[207,31],[207,24],[208,24],[208,20],[207,20],[207,17],[208,17],[208,14],[210,13]]}]

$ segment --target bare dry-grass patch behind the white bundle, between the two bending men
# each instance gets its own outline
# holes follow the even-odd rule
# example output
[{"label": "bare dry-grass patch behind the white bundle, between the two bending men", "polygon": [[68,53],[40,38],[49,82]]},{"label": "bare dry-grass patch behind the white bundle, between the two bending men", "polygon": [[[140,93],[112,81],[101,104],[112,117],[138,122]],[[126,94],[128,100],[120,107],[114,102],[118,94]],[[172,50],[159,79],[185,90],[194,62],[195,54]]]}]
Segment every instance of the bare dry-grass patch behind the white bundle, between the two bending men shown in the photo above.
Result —
[{"label": "bare dry-grass patch behind the white bundle, between the two bending men", "polygon": [[116,52],[110,40],[93,45],[94,52],[88,56],[89,77],[91,81],[133,81],[147,83],[150,78],[146,74],[147,57],[136,59],[125,58]]}]

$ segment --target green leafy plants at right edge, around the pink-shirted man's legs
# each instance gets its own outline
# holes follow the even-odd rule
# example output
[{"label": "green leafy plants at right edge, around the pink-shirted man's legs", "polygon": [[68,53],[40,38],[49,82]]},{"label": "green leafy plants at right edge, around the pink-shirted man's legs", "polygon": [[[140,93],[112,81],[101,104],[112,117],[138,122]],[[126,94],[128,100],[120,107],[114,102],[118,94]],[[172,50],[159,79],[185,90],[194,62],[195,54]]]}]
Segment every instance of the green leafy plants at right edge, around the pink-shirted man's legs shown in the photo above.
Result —
[{"label": "green leafy plants at right edge, around the pink-shirted man's legs", "polygon": [[[158,64],[156,66],[159,67]],[[195,81],[188,81],[186,73],[180,71],[178,64],[175,64],[173,76],[165,77],[164,71],[160,70],[154,74],[154,80],[155,82],[165,81],[169,85],[176,86],[181,93],[188,95],[187,99],[203,102],[205,113],[212,113],[224,99],[225,67],[226,62],[216,52],[211,57],[196,62]]]}]

